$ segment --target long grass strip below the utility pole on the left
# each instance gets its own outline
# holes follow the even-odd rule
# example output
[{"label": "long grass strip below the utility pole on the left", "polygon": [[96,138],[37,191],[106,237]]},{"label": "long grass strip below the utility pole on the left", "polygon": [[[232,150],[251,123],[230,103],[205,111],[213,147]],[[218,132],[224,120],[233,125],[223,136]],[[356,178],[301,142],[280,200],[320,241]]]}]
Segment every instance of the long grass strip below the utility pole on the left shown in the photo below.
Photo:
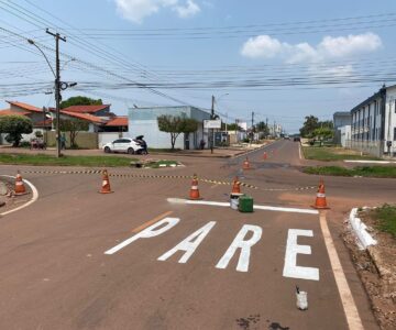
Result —
[{"label": "long grass strip below the utility pole on the left", "polygon": [[58,165],[58,166],[86,166],[86,167],[116,167],[130,166],[135,158],[118,156],[63,156],[53,155],[25,155],[25,154],[0,154],[1,164],[15,165]]}]

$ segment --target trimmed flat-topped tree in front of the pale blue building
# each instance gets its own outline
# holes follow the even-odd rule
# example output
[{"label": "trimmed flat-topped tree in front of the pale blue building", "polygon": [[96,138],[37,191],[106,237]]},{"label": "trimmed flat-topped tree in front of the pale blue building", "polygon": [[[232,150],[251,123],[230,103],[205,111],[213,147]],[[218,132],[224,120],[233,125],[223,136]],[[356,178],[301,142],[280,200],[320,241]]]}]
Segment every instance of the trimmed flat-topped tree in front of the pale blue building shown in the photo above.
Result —
[{"label": "trimmed flat-topped tree in front of the pale blue building", "polygon": [[170,133],[172,150],[175,148],[176,139],[180,133],[191,133],[198,129],[198,121],[184,116],[158,116],[157,123],[160,131]]}]

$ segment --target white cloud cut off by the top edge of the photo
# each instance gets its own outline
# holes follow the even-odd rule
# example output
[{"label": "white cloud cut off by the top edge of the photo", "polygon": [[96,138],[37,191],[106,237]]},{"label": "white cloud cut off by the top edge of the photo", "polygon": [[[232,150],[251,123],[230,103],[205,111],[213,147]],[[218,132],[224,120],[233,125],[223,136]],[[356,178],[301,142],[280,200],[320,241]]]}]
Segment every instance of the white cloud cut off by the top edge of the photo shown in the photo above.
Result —
[{"label": "white cloud cut off by the top edge of the photo", "polygon": [[114,2],[118,13],[134,23],[142,23],[145,18],[164,8],[170,8],[180,18],[189,18],[200,12],[199,6],[193,0],[187,0],[184,6],[179,0],[114,0]]}]

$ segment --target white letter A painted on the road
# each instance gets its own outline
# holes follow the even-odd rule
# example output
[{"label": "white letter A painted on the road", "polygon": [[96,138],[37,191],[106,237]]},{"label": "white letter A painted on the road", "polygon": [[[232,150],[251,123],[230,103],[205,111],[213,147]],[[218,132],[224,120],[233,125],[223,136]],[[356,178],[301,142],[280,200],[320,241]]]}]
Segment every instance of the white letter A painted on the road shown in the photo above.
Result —
[{"label": "white letter A painted on the road", "polygon": [[179,263],[186,263],[193,253],[196,251],[198,245],[204,241],[209,231],[213,228],[216,221],[210,221],[194,233],[191,233],[187,239],[183,240],[175,248],[164,253],[158,257],[160,261],[165,261],[177,251],[185,251],[186,253],[179,258]]}]

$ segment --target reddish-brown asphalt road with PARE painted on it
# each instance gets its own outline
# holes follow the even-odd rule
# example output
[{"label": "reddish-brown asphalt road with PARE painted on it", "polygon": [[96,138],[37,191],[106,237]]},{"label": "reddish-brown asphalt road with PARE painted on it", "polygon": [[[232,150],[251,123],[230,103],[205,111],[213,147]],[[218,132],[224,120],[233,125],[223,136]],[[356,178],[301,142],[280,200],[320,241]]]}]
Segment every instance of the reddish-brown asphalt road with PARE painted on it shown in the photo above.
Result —
[{"label": "reddish-brown asphalt road with PARE painted on it", "polygon": [[[394,182],[324,178],[331,210],[320,218],[287,211],[311,210],[319,180],[299,170],[297,143],[248,157],[249,170],[245,156],[111,169],[124,176],[110,177],[108,195],[100,175],[21,166],[40,197],[0,219],[0,329],[378,329],[339,234],[351,207],[394,201]],[[204,201],[227,201],[221,183],[239,175],[256,205],[283,210],[168,202],[191,183],[165,176],[194,173],[211,180],[199,184]],[[296,285],[308,310],[296,308]]]}]

